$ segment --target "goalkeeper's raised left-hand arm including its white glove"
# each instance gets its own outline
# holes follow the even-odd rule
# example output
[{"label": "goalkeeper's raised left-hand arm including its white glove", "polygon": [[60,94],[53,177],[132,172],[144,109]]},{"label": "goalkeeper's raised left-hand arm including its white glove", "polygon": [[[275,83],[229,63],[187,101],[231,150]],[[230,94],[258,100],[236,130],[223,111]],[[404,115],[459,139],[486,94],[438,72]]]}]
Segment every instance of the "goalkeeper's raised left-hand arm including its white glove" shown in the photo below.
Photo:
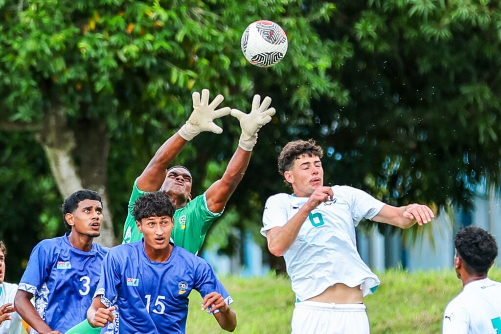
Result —
[{"label": "goalkeeper's raised left-hand arm including its white glove", "polygon": [[179,131],[170,137],[155,153],[144,171],[137,179],[137,187],[142,191],[157,191],[162,186],[166,176],[166,168],[172,160],[181,152],[184,145],[195,138],[200,132],[211,131],[221,133],[214,120],[228,115],[230,108],[225,107],[215,110],[224,100],[222,95],[217,95],[209,104],[209,91],[202,90],[202,96],[198,92],[193,93],[193,112]]}]

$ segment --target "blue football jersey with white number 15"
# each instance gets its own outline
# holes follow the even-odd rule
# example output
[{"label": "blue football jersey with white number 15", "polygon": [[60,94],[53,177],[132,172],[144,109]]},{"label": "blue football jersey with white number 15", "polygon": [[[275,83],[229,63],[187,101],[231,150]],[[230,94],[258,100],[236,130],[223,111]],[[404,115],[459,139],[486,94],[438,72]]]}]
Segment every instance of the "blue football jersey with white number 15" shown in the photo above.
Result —
[{"label": "blue football jersey with white number 15", "polygon": [[152,262],[141,240],[110,250],[95,296],[107,307],[118,306],[120,333],[184,333],[193,289],[233,301],[202,258],[174,246],[166,262]]}]

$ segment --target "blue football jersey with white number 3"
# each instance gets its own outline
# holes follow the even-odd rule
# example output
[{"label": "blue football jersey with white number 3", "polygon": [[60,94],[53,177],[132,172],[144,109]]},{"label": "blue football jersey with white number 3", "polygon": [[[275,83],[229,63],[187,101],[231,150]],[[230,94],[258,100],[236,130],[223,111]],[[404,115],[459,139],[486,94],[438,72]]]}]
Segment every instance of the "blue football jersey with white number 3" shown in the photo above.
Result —
[{"label": "blue football jersey with white number 3", "polygon": [[68,233],[43,240],[30,255],[19,289],[32,293],[40,317],[64,333],[86,319],[108,251],[95,242],[89,252],[75,248]]}]

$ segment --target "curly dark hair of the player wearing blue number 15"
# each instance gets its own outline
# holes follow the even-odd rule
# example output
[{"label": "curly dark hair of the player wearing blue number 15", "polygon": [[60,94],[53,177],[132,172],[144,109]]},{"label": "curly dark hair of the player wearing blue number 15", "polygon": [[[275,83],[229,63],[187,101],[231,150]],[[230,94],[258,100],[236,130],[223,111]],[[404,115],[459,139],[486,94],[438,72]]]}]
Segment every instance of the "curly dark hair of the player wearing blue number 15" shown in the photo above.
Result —
[{"label": "curly dark hair of the player wearing blue number 15", "polygon": [[135,203],[133,215],[136,221],[143,218],[174,216],[174,204],[163,191],[147,192],[140,196]]}]

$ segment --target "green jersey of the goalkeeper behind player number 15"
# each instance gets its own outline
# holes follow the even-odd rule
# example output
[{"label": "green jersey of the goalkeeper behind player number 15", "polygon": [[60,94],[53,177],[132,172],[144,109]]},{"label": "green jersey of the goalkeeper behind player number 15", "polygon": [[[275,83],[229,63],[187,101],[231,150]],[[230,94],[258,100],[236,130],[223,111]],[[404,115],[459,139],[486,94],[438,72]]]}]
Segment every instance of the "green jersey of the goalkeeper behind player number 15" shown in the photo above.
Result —
[{"label": "green jersey of the goalkeeper behind player number 15", "polygon": [[[132,211],[136,199],[144,193],[137,188],[136,180],[129,199],[129,212],[127,219],[125,219],[122,243],[139,241],[143,237],[143,234],[137,229]],[[222,212],[213,213],[209,210],[205,193],[196,196],[185,207],[174,212],[174,228],[171,235],[174,244],[196,254],[202,247],[210,225],[221,214]]]}]

